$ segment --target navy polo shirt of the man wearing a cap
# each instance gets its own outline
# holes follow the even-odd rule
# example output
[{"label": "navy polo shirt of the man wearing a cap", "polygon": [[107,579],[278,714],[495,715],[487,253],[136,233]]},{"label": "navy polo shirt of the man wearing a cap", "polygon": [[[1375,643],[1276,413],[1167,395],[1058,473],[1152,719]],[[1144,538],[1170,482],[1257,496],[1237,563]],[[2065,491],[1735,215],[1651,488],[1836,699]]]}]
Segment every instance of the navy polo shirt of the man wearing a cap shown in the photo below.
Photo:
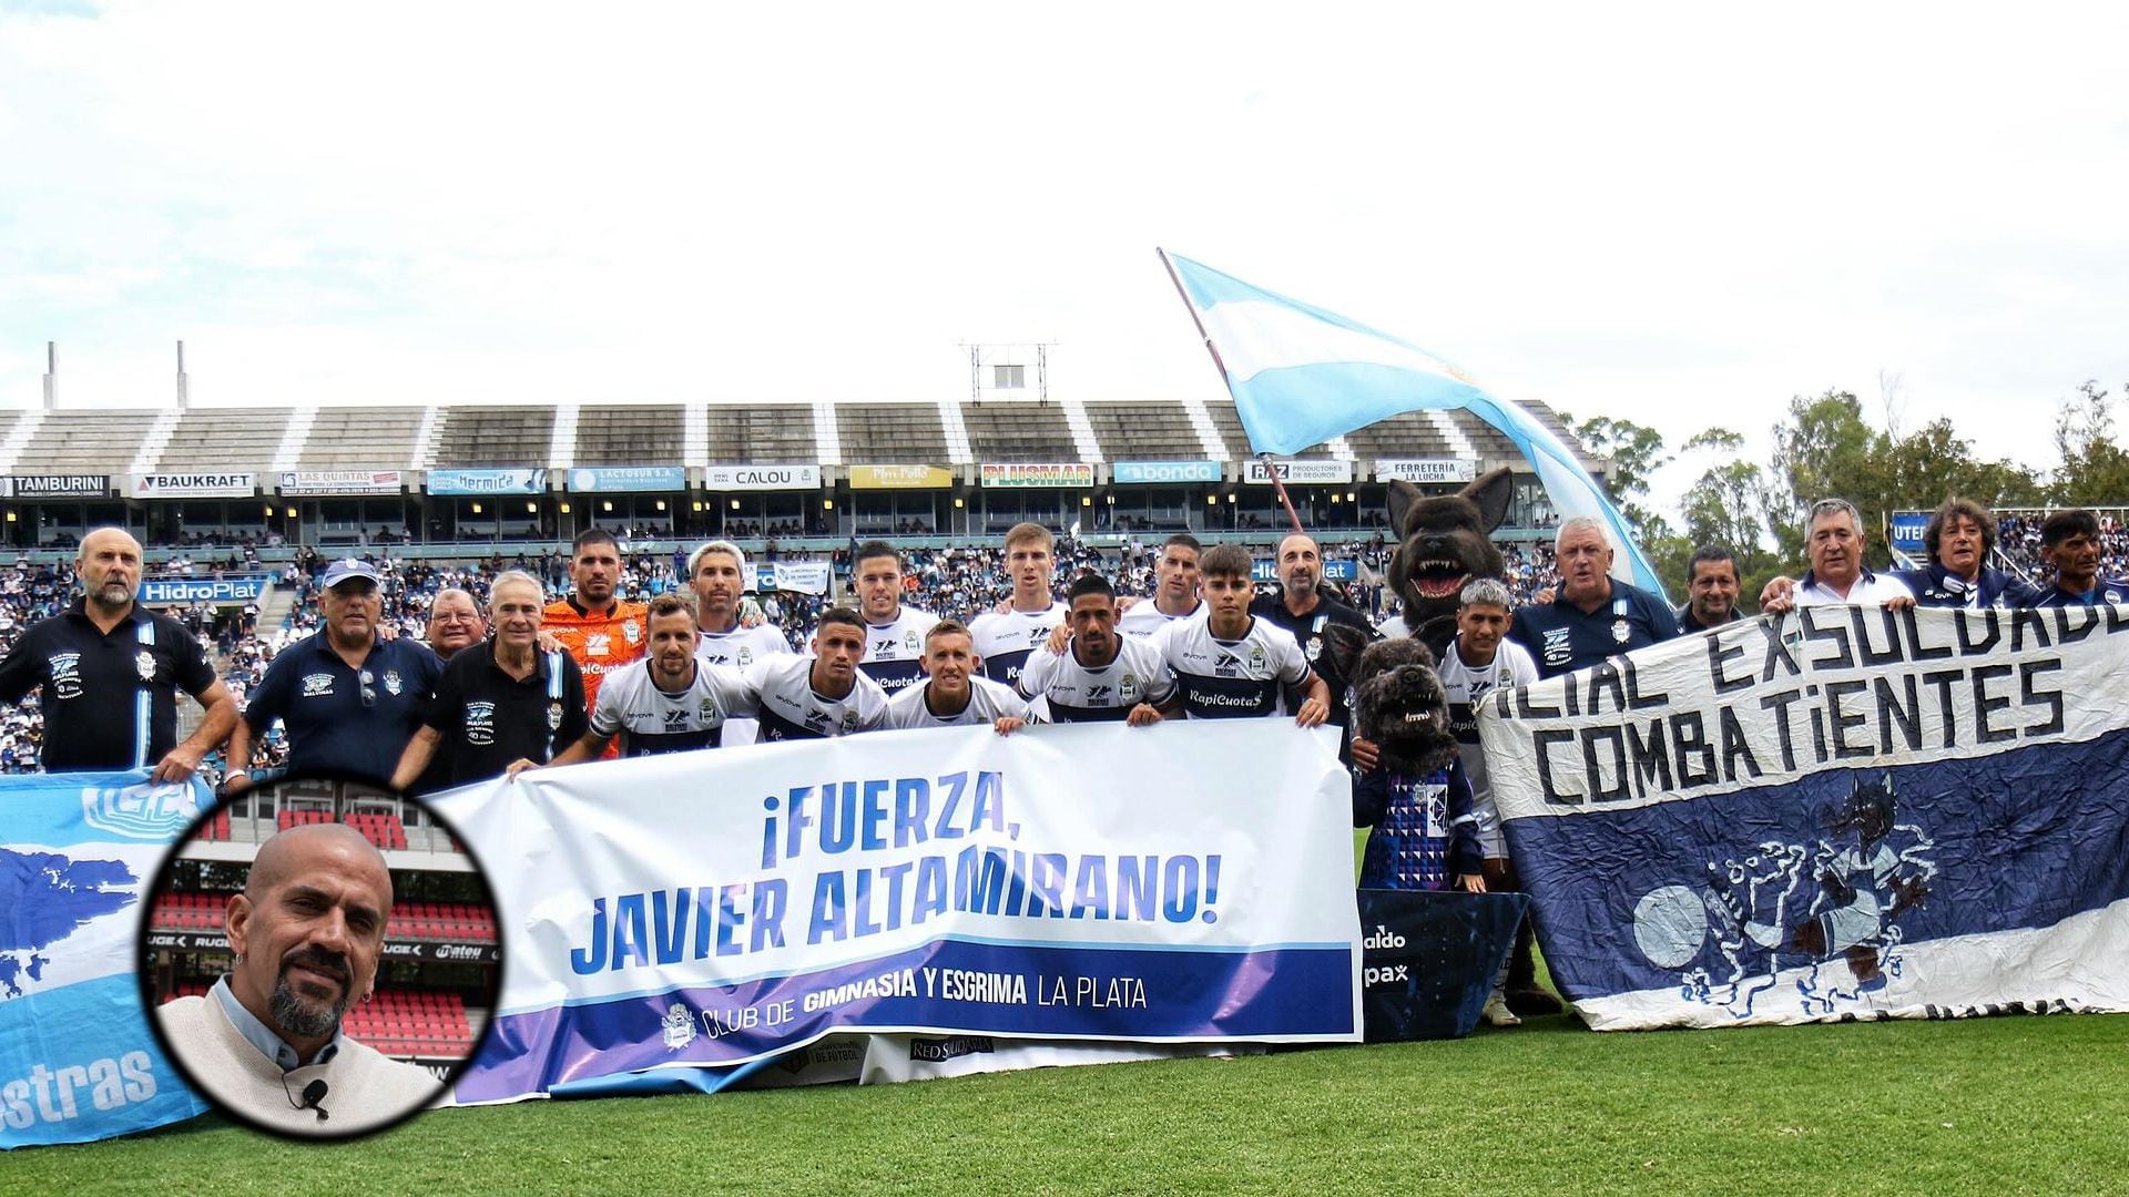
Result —
[{"label": "navy polo shirt of the man wearing a cap", "polygon": [[290,771],[390,782],[439,677],[443,662],[411,639],[373,641],[362,667],[349,669],[319,628],[273,658],[245,722],[264,733],[281,720]]}]

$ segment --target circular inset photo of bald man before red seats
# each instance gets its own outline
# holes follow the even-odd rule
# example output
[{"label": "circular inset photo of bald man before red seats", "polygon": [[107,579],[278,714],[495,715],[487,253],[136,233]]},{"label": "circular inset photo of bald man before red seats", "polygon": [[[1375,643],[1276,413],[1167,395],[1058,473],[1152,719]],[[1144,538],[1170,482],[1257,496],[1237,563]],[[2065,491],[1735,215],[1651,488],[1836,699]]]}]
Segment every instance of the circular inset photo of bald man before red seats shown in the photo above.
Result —
[{"label": "circular inset photo of bald man before red seats", "polygon": [[164,1052],[219,1112],[296,1139],[439,1103],[488,1027],[502,941],[479,860],[417,799],[290,777],[179,839],[141,927]]}]

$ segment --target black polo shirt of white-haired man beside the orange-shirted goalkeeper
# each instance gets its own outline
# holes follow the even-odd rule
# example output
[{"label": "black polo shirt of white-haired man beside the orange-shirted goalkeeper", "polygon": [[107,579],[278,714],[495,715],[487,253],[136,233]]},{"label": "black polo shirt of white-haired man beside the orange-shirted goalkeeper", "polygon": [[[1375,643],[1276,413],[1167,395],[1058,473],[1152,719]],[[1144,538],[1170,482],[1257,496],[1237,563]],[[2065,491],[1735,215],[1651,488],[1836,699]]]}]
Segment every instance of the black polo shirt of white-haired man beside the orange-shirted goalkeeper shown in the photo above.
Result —
[{"label": "black polo shirt of white-haired man beside the orange-shirted goalkeeper", "polygon": [[496,641],[458,650],[436,682],[424,722],[443,735],[453,786],[500,775],[519,756],[545,765],[583,739],[583,673],[566,652],[534,652],[524,682],[496,665]]}]

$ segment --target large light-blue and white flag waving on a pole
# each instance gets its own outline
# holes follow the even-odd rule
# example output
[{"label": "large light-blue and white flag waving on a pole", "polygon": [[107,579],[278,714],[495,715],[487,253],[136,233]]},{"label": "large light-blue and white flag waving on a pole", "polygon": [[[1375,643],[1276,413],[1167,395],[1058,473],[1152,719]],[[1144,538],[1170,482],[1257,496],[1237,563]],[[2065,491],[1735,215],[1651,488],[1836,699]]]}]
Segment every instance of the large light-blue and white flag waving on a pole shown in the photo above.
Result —
[{"label": "large light-blue and white flag waving on a pole", "polygon": [[1258,454],[1299,454],[1401,411],[1471,411],[1537,471],[1563,515],[1592,515],[1620,550],[1612,573],[1663,594],[1656,571],[1597,479],[1518,403],[1495,398],[1454,364],[1335,311],[1267,292],[1160,251],[1211,347]]}]

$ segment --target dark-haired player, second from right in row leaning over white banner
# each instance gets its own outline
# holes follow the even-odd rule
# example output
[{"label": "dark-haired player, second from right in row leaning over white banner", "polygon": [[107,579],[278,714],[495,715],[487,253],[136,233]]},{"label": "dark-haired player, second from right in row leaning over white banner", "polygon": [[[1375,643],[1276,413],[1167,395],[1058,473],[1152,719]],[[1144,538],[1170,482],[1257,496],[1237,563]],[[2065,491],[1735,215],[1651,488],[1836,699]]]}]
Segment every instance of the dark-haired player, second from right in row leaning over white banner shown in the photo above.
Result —
[{"label": "dark-haired player, second from right in row leaning over white banner", "polygon": [[[1190,573],[1196,575],[1196,550],[1190,550]],[[1126,720],[1145,726],[1182,709],[1169,662],[1150,641],[1118,635],[1116,588],[1107,577],[1079,577],[1064,603],[1069,645],[1028,656],[1020,673],[1020,692],[1035,701],[1037,714],[1058,724]]]}]

